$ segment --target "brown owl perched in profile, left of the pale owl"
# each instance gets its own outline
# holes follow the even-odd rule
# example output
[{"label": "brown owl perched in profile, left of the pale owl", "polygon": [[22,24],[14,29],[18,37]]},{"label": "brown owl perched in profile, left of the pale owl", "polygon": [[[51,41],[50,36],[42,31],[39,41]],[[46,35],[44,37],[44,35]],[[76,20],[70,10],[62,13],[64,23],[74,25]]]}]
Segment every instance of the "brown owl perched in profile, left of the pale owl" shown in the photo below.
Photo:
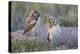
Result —
[{"label": "brown owl perched in profile, left of the pale owl", "polygon": [[32,10],[25,19],[25,28],[23,34],[30,31],[36,24],[40,14],[37,10]]}]

